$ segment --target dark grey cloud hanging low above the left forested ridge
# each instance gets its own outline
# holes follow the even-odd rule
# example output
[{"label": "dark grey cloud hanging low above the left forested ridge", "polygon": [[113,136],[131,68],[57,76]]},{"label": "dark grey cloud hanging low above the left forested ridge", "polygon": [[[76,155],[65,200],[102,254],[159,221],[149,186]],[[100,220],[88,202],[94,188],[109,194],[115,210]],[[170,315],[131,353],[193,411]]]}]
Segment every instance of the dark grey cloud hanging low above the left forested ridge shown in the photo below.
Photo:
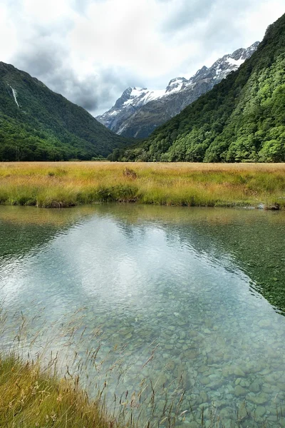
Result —
[{"label": "dark grey cloud hanging low above the left forested ridge", "polygon": [[110,108],[126,87],[140,84],[139,77],[115,66],[100,66],[97,73],[79,78],[68,61],[66,47],[48,38],[33,41],[14,56],[13,64],[94,116]]}]

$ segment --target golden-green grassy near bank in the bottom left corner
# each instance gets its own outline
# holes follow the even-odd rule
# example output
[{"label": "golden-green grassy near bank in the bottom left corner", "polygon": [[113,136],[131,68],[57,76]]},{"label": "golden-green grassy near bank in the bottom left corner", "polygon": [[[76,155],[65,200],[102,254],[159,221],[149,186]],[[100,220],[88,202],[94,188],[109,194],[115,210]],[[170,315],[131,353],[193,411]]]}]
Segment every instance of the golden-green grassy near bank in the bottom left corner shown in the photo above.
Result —
[{"label": "golden-green grassy near bank in the bottom left corner", "polygon": [[107,417],[99,399],[89,401],[77,378],[58,379],[38,363],[15,355],[0,357],[0,426],[109,428],[119,427]]}]

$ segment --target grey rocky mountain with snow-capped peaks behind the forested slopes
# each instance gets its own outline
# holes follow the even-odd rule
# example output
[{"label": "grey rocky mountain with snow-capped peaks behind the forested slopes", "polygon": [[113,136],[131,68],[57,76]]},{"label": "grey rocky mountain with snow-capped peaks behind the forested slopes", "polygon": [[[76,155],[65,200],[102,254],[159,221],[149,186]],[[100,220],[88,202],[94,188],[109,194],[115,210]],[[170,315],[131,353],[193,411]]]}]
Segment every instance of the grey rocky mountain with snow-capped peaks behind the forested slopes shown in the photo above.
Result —
[{"label": "grey rocky mountain with snow-capped peaks behind the forested slopes", "polygon": [[237,49],[231,55],[219,58],[210,68],[202,67],[189,80],[173,78],[165,90],[150,91],[147,88],[127,88],[115,106],[97,117],[97,120],[122,136],[145,138],[199,96],[210,91],[231,71],[250,58],[259,42],[247,49]]}]

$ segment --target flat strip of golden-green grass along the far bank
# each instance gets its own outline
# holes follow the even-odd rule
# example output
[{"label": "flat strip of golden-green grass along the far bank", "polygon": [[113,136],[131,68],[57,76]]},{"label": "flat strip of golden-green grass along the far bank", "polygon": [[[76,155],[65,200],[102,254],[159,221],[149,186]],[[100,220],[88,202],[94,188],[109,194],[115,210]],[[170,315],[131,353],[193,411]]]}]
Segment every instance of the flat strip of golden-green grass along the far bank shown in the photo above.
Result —
[{"label": "flat strip of golden-green grass along the far bank", "polygon": [[0,163],[0,203],[103,202],[285,208],[285,164]]}]

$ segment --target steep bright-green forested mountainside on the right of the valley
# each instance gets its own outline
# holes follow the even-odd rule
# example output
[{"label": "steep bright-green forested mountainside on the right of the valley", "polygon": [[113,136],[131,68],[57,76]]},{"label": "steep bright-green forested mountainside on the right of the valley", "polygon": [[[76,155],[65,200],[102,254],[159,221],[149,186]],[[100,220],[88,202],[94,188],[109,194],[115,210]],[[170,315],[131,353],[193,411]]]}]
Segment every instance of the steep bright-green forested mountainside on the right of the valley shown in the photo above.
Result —
[{"label": "steep bright-green forested mountainside on the right of the valley", "polygon": [[125,161],[285,161],[285,15],[257,51]]}]

